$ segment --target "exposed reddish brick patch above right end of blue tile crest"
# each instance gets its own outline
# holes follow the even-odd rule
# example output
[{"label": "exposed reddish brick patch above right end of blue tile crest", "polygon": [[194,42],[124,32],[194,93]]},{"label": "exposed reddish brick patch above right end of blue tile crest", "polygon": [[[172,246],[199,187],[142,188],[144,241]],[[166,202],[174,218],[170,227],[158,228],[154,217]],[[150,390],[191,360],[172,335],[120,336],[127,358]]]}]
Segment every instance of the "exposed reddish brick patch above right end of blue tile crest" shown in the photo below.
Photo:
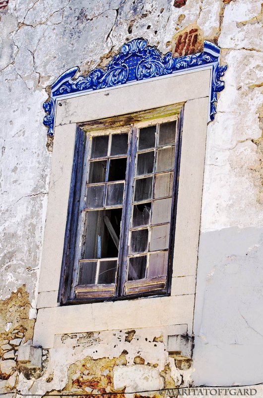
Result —
[{"label": "exposed reddish brick patch above right end of blue tile crest", "polygon": [[178,33],[172,40],[173,56],[181,57],[201,52],[203,50],[202,32],[197,26],[188,26]]}]

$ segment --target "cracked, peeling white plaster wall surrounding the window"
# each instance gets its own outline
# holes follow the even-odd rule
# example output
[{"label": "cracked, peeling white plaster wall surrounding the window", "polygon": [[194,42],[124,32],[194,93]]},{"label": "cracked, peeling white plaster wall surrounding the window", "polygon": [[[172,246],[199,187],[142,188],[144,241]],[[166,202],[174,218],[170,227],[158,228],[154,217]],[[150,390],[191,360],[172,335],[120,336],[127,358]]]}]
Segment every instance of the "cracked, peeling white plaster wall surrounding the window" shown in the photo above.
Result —
[{"label": "cracked, peeling white plaster wall surrounding the window", "polygon": [[[104,66],[124,42],[136,37],[143,36],[163,53],[174,50],[174,38],[195,25],[202,30],[203,38],[221,47],[221,62],[228,65],[228,70],[215,120],[207,129],[194,366],[186,371],[184,383],[261,382],[261,1],[9,0],[0,11],[0,290],[2,311],[11,314],[15,310],[24,325],[17,324],[10,315],[10,319],[4,316],[0,325],[3,340],[10,342],[18,338],[17,333],[25,333],[28,323],[23,319],[34,322],[36,315],[52,156],[45,147],[46,128],[42,124],[45,89],[72,66],[79,65],[82,73]],[[26,308],[23,315],[19,308]],[[81,348],[76,341],[81,336],[61,338],[51,352],[44,353],[43,374],[36,382],[22,373],[18,375],[13,363],[16,346],[7,342],[12,348],[3,353],[14,351],[14,358],[8,359],[13,361],[9,364],[6,358],[3,361],[0,387],[18,386],[25,392],[31,388],[32,393],[44,393],[79,386],[82,389],[85,385],[84,391],[88,392],[85,388],[95,386],[94,380],[101,372],[106,372],[105,377],[110,375],[103,383],[112,386],[115,380],[120,391],[138,388],[136,379],[142,375],[148,387],[156,381],[158,387],[165,385],[167,380],[168,387],[182,384],[182,376],[167,357],[163,343],[158,342],[158,355],[153,358],[145,341],[152,341],[153,336],[150,338],[147,331],[136,331],[140,345],[134,339],[128,343],[125,331],[122,333],[119,339],[102,333],[96,342],[88,336],[86,342],[81,340]],[[125,369],[128,365],[129,371]],[[89,366],[93,369],[93,384],[87,382]],[[120,382],[124,379],[125,385]]]}]

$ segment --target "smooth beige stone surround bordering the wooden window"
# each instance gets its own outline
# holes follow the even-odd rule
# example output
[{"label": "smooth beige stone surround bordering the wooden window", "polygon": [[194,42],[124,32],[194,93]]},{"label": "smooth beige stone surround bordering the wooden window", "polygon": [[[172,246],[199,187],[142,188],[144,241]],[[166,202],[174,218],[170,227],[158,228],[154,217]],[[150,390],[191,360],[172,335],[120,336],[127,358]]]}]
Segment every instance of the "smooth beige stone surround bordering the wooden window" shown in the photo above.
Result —
[{"label": "smooth beige stone surround bordering the wooden window", "polygon": [[[119,328],[187,324],[192,333],[210,77],[207,68],[59,101],[33,344],[48,348],[56,334]],[[171,296],[58,306],[77,125],[180,102],[184,121]]]}]

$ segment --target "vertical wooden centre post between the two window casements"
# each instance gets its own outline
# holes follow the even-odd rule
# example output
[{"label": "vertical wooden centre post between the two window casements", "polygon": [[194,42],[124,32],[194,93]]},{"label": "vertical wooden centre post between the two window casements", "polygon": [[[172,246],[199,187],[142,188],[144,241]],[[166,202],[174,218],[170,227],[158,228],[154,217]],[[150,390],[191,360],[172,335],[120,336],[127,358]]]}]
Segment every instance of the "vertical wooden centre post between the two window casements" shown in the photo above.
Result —
[{"label": "vertical wooden centre post between the two window casements", "polygon": [[128,256],[128,242],[129,242],[129,228],[132,215],[132,194],[133,181],[135,172],[135,156],[137,148],[138,127],[131,125],[129,151],[127,159],[127,173],[126,173],[126,188],[123,203],[123,217],[122,217],[122,231],[120,236],[120,250],[119,250],[119,272],[117,279],[117,294],[123,296],[124,283],[127,274],[127,256]]}]

